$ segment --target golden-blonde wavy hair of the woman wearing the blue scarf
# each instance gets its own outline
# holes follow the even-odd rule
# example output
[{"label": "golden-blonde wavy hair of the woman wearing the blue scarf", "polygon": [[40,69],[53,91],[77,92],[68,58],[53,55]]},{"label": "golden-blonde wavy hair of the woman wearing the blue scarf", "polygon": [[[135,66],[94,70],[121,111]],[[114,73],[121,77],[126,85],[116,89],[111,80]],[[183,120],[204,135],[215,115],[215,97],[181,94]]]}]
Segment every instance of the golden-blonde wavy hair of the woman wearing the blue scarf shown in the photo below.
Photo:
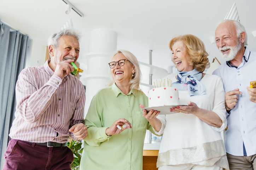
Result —
[{"label": "golden-blonde wavy hair of the woman wearing the blue scarf", "polygon": [[[189,65],[193,65],[193,68],[199,72],[203,72],[205,68],[210,67],[209,59],[207,58],[209,55],[205,50],[202,40],[191,34],[174,37],[169,43],[170,50],[173,50],[174,43],[178,41],[181,41],[186,47],[187,57],[191,59],[188,61]],[[175,64],[174,61],[173,63]]]}]

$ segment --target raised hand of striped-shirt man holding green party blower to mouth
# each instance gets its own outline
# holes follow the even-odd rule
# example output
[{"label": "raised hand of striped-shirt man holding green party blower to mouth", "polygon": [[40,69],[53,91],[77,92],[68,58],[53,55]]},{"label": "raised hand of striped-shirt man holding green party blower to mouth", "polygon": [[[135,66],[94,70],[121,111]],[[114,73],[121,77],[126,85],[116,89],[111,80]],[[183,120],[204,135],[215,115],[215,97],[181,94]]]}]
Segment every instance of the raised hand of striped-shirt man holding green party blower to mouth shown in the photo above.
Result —
[{"label": "raised hand of striped-shirt man holding green party blower to mouth", "polygon": [[56,65],[54,75],[59,76],[60,78],[65,77],[65,75],[70,74],[71,71],[74,71],[72,68],[71,62],[74,62],[74,59],[64,60],[61,63]]}]

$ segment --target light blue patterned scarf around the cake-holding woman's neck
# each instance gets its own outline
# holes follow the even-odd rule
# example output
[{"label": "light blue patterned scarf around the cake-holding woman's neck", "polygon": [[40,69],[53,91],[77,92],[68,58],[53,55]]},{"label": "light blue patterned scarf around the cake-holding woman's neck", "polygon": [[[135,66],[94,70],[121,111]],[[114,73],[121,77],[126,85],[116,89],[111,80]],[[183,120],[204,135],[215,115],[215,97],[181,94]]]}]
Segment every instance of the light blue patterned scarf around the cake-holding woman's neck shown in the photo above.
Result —
[{"label": "light blue patterned scarf around the cake-holding woman's neck", "polygon": [[172,87],[180,91],[188,91],[190,96],[197,96],[205,94],[205,88],[200,80],[202,78],[202,73],[196,69],[192,71],[180,72],[177,70],[178,81],[172,83]]}]

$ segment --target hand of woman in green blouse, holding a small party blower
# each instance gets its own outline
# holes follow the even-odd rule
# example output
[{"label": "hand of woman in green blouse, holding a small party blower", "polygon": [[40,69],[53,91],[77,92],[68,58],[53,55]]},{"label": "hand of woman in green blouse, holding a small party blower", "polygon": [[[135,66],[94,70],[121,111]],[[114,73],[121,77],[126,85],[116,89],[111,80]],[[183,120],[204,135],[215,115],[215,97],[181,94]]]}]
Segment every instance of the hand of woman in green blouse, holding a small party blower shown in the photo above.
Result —
[{"label": "hand of woman in green blouse, holding a small party blower", "polygon": [[[127,127],[124,127],[121,130],[117,128],[117,125],[122,126],[124,124],[126,124]],[[109,128],[106,129],[105,133],[106,133],[107,136],[112,136],[112,135],[115,135],[115,134],[119,134],[122,131],[124,131],[126,129],[130,129],[130,128],[132,128],[132,125],[128,120],[118,119],[114,122],[114,124],[112,126],[110,126]]]}]

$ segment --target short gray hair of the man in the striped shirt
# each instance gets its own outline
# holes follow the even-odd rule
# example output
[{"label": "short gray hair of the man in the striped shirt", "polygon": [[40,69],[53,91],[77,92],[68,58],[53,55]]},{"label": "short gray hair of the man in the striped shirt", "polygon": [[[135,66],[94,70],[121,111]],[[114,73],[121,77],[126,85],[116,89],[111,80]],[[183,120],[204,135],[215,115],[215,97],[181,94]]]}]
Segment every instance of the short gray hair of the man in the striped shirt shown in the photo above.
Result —
[{"label": "short gray hair of the man in the striped shirt", "polygon": [[53,45],[55,49],[58,49],[59,39],[61,36],[65,35],[75,37],[78,40],[78,42],[81,39],[81,33],[79,31],[77,31],[74,28],[66,28],[63,30],[59,30],[57,33],[53,33],[48,39],[48,46]]}]

